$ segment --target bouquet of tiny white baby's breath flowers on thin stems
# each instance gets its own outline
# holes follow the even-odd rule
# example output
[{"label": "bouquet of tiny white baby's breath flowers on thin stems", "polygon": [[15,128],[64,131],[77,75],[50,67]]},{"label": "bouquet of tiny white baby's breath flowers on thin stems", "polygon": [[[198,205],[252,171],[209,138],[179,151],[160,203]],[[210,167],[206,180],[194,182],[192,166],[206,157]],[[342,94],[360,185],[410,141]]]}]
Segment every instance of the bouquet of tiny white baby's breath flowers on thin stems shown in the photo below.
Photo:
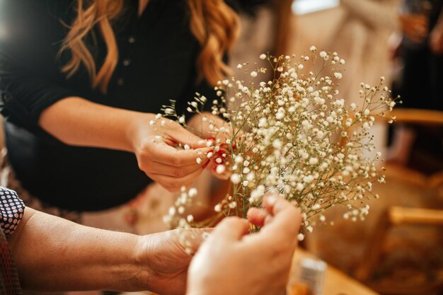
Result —
[{"label": "bouquet of tiny white baby's breath flowers on thin stems", "polygon": [[[269,61],[273,79],[260,81],[268,69],[249,71],[248,64],[239,64],[251,81],[219,81],[214,116],[202,115],[213,137],[207,141],[211,151],[197,162],[209,159],[217,173],[229,175],[231,185],[214,211],[220,217],[244,217],[248,208],[261,206],[265,193],[274,192],[301,209],[307,231],[325,223],[323,211],[335,205],[343,206],[345,219],[364,219],[366,201],[378,197],[372,184],[384,183],[384,168],[377,163],[381,154],[374,151],[370,130],[376,117],[395,120],[387,115],[396,103],[384,78],[376,86],[362,83],[360,103],[347,105],[336,89],[345,64],[337,53],[311,47],[299,58],[260,58]],[[188,112],[201,113],[205,102],[197,94]],[[186,126],[173,104],[163,112]],[[216,116],[227,123],[217,125]],[[196,226],[193,217],[185,215],[196,194],[183,188],[166,221]]]}]

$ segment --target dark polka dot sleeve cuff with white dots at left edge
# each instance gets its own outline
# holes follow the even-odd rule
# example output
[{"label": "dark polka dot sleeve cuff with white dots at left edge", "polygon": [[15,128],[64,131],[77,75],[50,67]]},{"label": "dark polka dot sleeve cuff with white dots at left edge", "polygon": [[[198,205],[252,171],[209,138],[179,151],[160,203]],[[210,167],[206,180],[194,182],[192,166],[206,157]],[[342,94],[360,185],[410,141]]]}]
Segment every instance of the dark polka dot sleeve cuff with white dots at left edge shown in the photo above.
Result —
[{"label": "dark polka dot sleeve cuff with white dots at left edge", "polygon": [[23,218],[25,204],[13,190],[0,187],[0,227],[5,236],[11,235]]}]

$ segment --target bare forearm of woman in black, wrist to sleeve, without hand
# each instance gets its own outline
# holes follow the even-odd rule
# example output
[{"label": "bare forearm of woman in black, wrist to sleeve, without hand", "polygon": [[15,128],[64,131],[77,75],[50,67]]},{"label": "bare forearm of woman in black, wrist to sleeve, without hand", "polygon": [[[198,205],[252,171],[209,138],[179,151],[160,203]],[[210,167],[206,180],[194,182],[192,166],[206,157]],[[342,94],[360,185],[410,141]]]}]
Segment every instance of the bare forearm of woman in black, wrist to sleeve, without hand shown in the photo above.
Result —
[{"label": "bare forearm of woman in black, wrist to sleeve, without hand", "polygon": [[39,124],[66,144],[133,151],[134,126],[140,121],[149,125],[153,118],[153,114],[65,98],[42,112]]}]

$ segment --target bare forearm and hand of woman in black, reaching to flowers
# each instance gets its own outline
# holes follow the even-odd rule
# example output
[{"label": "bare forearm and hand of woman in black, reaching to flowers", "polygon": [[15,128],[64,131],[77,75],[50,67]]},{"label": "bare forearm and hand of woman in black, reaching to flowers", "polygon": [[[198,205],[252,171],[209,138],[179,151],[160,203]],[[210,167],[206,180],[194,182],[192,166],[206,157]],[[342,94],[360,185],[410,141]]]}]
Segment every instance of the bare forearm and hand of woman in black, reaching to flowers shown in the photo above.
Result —
[{"label": "bare forearm and hand of woman in black, reaching to flowers", "polygon": [[[84,98],[65,98],[47,108],[39,124],[65,144],[130,151],[150,178],[174,192],[189,185],[200,173],[199,151],[205,142],[178,123],[162,119],[151,126],[154,114],[111,108]],[[177,149],[188,144],[189,150]],[[192,150],[194,149],[194,150]]]}]

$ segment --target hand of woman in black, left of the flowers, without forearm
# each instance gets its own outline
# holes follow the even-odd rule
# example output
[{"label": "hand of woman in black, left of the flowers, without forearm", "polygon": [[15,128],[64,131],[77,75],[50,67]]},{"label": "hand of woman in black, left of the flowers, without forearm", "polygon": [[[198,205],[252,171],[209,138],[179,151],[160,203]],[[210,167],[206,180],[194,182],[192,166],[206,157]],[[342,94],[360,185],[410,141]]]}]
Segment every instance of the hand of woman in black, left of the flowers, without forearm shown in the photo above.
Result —
[{"label": "hand of woman in black, left of the flowers, without forearm", "polygon": [[[152,180],[170,192],[190,185],[202,173],[207,160],[206,141],[197,137],[178,123],[166,118],[150,125],[154,115],[137,117],[130,138],[139,168]],[[188,145],[189,149],[179,148]],[[197,158],[200,161],[197,162]]]}]

